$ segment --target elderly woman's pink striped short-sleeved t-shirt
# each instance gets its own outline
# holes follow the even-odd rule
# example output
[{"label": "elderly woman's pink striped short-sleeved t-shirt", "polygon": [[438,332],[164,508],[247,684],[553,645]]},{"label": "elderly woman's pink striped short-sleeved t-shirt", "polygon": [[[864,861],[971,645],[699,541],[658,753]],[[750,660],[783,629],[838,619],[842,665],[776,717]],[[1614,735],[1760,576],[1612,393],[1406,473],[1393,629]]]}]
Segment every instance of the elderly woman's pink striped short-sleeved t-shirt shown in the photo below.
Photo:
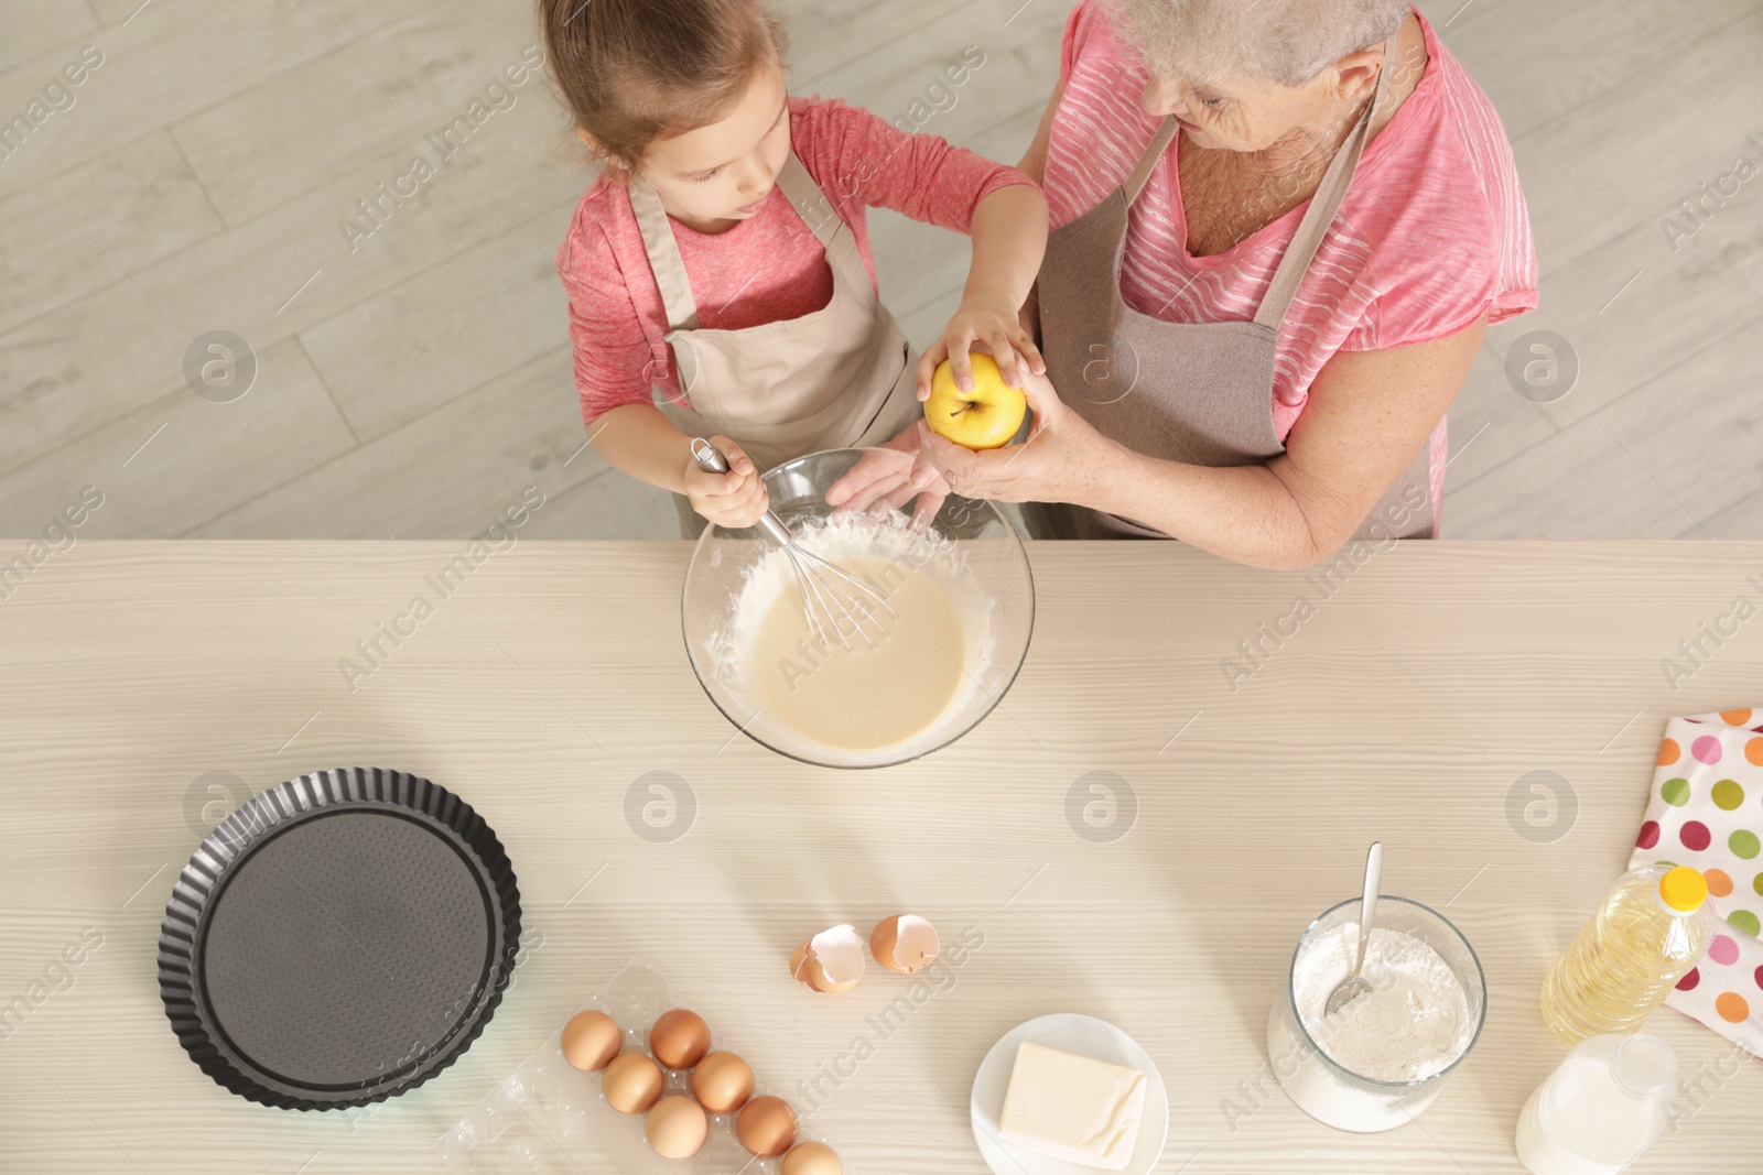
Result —
[{"label": "elderly woman's pink striped short-sleeved t-shirt", "polygon": [[[1273,430],[1285,440],[1317,372],[1338,351],[1446,338],[1483,314],[1500,322],[1537,305],[1537,259],[1511,143],[1481,86],[1433,35],[1426,72],[1365,148],[1352,185],[1280,328]],[[1047,141],[1044,190],[1058,229],[1132,173],[1160,116],[1139,102],[1149,69],[1097,0],[1065,21],[1065,97]],[[1255,317],[1308,201],[1211,257],[1190,257],[1176,151],[1151,171],[1128,215],[1120,291],[1165,322]],[[1432,435],[1433,507],[1442,499],[1446,425]]]}]

